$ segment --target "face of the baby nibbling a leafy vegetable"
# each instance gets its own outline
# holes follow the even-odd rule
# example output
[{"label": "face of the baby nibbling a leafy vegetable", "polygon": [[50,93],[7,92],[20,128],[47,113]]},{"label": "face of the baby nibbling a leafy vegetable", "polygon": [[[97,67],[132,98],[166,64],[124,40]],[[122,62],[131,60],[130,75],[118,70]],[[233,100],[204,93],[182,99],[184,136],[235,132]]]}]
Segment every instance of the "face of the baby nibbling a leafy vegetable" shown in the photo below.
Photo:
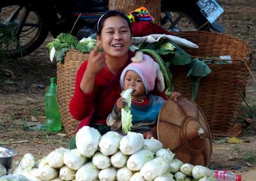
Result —
[{"label": "face of the baby nibbling a leafy vegetable", "polygon": [[134,71],[127,71],[124,77],[124,90],[134,89],[132,96],[142,96],[145,95],[145,87],[142,79],[138,73]]}]

